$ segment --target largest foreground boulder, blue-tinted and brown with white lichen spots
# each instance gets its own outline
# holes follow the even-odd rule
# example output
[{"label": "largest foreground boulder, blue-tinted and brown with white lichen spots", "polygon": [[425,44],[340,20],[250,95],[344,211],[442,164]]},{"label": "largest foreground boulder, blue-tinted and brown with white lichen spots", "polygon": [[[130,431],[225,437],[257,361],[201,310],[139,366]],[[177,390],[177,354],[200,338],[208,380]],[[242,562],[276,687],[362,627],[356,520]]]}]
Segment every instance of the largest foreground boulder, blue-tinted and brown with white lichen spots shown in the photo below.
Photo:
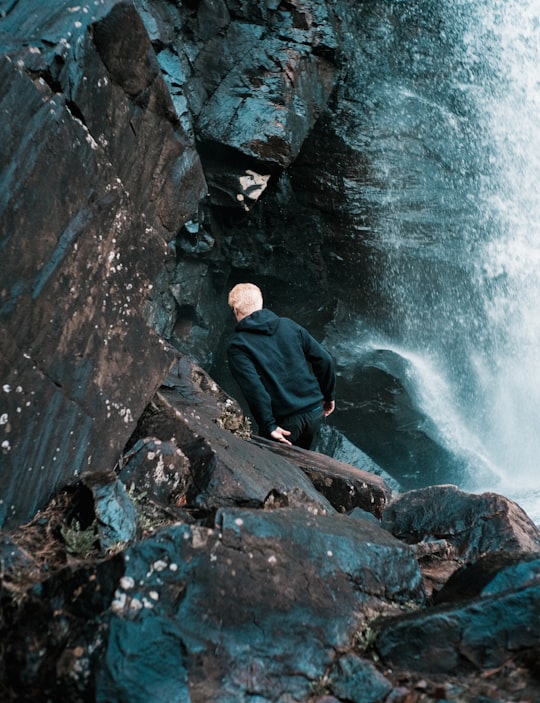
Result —
[{"label": "largest foreground boulder, blue-tinted and brown with white lichen spots", "polygon": [[375,613],[423,598],[412,551],[377,525],[224,508],[29,592],[3,621],[3,683],[19,700],[305,700],[335,665],[336,691],[388,691],[341,656]]}]

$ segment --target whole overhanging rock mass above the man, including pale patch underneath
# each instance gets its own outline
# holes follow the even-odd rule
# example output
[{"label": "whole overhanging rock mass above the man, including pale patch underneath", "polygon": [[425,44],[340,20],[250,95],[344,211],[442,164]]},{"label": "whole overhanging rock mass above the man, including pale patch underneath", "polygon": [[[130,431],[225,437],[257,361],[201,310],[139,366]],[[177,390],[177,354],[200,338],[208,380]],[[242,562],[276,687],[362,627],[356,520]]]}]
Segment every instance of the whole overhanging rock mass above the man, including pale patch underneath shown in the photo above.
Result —
[{"label": "whole overhanging rock mass above the man, including pale patch underneath", "polygon": [[335,86],[332,10],[311,1],[137,6],[178,114],[197,133],[213,204],[251,209]]}]

